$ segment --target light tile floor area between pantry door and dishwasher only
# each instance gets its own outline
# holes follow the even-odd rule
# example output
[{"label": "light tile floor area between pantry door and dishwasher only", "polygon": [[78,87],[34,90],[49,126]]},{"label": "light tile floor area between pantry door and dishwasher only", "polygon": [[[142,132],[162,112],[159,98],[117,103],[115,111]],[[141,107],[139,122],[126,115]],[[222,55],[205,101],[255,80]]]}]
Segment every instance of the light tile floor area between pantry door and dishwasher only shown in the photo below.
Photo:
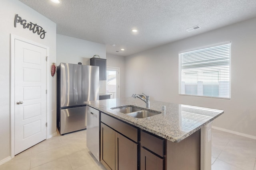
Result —
[{"label": "light tile floor area between pantry door and dishwasher only", "polygon": [[86,130],[56,135],[17,154],[0,170],[106,170],[86,147]]}]

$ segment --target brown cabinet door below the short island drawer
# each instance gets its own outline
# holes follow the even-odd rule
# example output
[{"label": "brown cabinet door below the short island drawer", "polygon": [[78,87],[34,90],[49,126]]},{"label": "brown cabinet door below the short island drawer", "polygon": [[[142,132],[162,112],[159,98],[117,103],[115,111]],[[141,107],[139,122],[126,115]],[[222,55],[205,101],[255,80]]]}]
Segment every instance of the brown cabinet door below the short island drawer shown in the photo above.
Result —
[{"label": "brown cabinet door below the short island drawer", "polygon": [[148,150],[140,149],[140,169],[141,170],[163,170],[164,160],[158,156],[148,152]]}]

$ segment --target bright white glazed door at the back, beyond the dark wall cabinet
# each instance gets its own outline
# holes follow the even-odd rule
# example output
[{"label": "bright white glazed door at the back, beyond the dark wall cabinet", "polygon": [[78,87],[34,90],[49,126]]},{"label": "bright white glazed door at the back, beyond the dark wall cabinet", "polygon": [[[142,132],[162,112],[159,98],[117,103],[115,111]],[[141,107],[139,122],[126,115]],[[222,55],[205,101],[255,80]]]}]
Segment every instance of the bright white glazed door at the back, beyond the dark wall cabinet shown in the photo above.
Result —
[{"label": "bright white glazed door at the back, beyond the dark wall cabinet", "polygon": [[107,67],[106,92],[111,99],[119,98],[119,68]]}]

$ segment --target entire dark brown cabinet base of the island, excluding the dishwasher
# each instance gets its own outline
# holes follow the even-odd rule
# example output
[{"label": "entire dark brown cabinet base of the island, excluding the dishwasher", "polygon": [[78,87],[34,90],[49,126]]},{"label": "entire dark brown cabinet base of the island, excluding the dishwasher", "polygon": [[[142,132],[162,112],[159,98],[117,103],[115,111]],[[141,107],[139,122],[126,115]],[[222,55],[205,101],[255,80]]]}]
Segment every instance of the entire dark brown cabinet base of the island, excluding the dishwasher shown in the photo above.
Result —
[{"label": "entire dark brown cabinet base of the island, excluding the dishwasher", "polygon": [[173,143],[102,112],[100,129],[108,170],[200,170],[200,130]]}]

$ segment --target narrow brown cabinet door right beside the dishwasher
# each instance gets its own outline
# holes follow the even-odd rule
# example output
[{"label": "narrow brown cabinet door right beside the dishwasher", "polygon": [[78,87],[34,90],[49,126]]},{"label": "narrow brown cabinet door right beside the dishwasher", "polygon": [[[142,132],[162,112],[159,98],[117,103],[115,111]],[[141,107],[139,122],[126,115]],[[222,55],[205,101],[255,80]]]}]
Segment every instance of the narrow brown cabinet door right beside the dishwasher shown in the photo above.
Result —
[{"label": "narrow brown cabinet door right beside the dishwasher", "polygon": [[115,131],[103,123],[101,123],[101,162],[107,169],[115,169]]}]

